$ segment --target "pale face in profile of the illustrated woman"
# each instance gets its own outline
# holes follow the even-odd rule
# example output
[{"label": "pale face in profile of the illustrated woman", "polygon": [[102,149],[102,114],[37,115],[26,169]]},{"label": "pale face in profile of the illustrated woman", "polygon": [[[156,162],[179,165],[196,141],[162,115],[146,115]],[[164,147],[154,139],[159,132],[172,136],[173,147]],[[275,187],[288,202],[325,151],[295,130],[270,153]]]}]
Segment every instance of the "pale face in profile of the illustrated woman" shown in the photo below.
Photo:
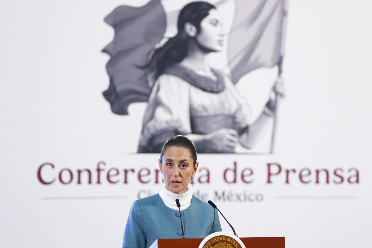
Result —
[{"label": "pale face in profile of the illustrated woman", "polygon": [[204,17],[200,27],[200,33],[195,36],[198,44],[212,52],[221,51],[224,45],[224,30],[217,10],[209,10],[209,15]]}]

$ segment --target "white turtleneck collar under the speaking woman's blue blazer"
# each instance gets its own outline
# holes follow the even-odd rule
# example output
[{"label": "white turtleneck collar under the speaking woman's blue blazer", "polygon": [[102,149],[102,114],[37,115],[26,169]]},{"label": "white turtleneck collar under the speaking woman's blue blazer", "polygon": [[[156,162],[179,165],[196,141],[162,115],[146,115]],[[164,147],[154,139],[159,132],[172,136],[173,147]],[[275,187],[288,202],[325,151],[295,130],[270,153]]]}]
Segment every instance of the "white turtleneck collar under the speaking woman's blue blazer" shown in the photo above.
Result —
[{"label": "white turtleneck collar under the speaking woman's blue blazer", "polygon": [[174,210],[178,210],[178,207],[176,204],[177,198],[180,201],[181,211],[187,209],[187,207],[191,205],[192,194],[190,192],[190,189],[187,189],[185,193],[175,194],[167,190],[165,185],[163,185],[163,190],[159,192],[159,196],[167,207],[174,209]]}]

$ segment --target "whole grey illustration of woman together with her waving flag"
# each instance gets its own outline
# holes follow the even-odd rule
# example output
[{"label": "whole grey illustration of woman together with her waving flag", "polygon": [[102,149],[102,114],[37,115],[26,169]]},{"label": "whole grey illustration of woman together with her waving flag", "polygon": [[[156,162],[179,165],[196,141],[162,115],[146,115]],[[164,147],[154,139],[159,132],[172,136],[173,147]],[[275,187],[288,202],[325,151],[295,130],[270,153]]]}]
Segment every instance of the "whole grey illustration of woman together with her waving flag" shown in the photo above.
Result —
[{"label": "whole grey illustration of woman together with her waving flag", "polygon": [[[205,1],[179,6],[151,0],[106,16],[115,37],[103,49],[111,57],[103,96],[119,115],[128,115],[131,103],[147,102],[144,114],[136,112],[143,116],[137,152],[160,152],[169,137],[185,135],[199,153],[234,153],[254,148],[269,132],[283,80],[268,82],[271,92],[254,114],[236,84],[256,68],[281,68],[284,0],[215,2],[218,8]],[[235,3],[234,13],[226,3]],[[233,20],[230,28],[222,16]]]}]

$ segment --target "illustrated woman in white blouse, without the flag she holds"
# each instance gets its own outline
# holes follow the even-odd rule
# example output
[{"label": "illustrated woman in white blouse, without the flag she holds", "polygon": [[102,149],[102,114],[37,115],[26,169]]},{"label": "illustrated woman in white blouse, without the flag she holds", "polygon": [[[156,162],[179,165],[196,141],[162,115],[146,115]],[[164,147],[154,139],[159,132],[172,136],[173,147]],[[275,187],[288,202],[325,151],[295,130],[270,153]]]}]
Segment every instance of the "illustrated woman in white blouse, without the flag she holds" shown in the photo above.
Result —
[{"label": "illustrated woman in white blouse, without the flag she holds", "polygon": [[151,95],[138,152],[159,152],[173,135],[186,135],[198,152],[232,153],[251,148],[282,94],[279,78],[261,115],[248,125],[250,107],[230,78],[206,62],[224,46],[221,16],[212,4],[193,2],[179,13],[178,33],[156,49],[147,67]]}]

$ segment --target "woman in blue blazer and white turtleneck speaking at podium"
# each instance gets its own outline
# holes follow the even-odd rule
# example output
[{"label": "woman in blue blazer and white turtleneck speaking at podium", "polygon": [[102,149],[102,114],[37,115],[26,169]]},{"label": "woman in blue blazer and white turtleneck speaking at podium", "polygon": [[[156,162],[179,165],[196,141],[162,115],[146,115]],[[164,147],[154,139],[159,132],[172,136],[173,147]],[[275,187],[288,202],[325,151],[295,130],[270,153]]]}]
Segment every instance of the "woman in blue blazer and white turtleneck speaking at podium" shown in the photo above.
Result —
[{"label": "woman in blue blazer and white turtleneck speaking at podium", "polygon": [[163,190],[153,196],[136,200],[126,223],[123,248],[148,248],[156,239],[181,238],[179,199],[183,230],[186,238],[205,238],[222,231],[218,212],[208,203],[191,194],[189,183],[198,170],[196,148],[181,135],[169,138],[159,159]]}]

